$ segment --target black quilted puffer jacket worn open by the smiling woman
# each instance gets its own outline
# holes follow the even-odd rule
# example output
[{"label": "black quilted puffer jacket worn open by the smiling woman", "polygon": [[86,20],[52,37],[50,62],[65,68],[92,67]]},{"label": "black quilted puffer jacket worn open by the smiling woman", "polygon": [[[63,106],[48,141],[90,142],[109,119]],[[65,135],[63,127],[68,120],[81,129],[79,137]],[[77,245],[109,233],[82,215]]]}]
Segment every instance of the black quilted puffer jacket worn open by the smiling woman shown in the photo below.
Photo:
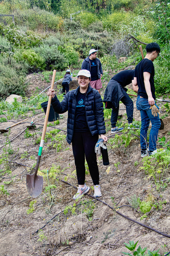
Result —
[{"label": "black quilted puffer jacket worn open by the smiling woman", "polygon": [[[62,114],[68,110],[67,119],[67,142],[70,144],[74,133],[74,120],[76,112],[76,96],[79,91],[79,86],[76,90],[68,92],[64,99],[60,102],[55,97],[51,100],[54,111]],[[105,122],[103,113],[103,102],[99,92],[89,85],[85,96],[85,115],[89,130],[92,135],[105,134]]]}]

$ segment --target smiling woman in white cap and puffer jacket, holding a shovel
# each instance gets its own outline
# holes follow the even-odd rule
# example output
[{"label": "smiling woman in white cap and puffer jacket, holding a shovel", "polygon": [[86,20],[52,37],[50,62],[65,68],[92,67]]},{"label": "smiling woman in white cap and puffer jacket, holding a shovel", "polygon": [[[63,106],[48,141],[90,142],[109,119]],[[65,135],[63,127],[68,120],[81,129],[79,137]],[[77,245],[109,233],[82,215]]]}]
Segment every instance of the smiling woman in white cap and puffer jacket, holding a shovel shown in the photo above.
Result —
[{"label": "smiling woman in white cap and puffer jacket, holding a shovel", "polygon": [[85,158],[94,184],[94,196],[101,196],[95,145],[99,135],[107,141],[104,135],[106,130],[103,101],[99,92],[89,85],[90,71],[82,69],[77,77],[78,88],[66,93],[62,102],[58,100],[54,90],[48,91],[48,96],[52,96],[52,106],[57,113],[62,114],[68,110],[67,142],[69,144],[72,142],[78,178],[78,191],[73,199],[81,197],[90,189],[85,184]]}]

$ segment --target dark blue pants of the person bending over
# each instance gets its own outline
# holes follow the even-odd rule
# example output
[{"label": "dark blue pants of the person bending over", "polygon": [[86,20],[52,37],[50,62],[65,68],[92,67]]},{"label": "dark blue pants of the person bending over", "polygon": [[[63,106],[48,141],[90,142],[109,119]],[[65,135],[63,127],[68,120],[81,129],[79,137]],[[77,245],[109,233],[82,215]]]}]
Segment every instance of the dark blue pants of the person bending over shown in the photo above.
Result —
[{"label": "dark blue pants of the person bending over", "polygon": [[[128,120],[128,123],[131,124],[133,122],[133,101],[130,99],[129,95],[125,92],[122,86],[121,86],[121,90],[124,94],[121,101],[126,106],[126,114],[128,117],[127,120]],[[112,127],[116,127],[118,114],[119,114],[119,105],[117,108],[112,109],[112,114],[110,119]]]}]

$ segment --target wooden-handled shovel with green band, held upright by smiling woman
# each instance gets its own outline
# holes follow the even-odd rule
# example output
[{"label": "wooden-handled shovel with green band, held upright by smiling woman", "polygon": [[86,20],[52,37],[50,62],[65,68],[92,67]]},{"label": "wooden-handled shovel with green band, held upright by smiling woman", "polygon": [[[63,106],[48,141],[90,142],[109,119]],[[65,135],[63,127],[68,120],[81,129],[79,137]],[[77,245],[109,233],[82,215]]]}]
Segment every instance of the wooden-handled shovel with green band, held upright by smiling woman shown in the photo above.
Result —
[{"label": "wooden-handled shovel with green band, held upright by smiling woman", "polygon": [[[54,69],[53,77],[52,77],[52,81],[51,81],[51,90],[53,89],[53,86],[54,86],[55,74],[56,74],[56,70]],[[43,130],[42,130],[42,136],[41,136],[41,142],[40,142],[40,148],[39,148],[39,152],[38,152],[35,172],[34,172],[34,174],[26,174],[26,188],[27,188],[29,195],[32,197],[39,196],[43,189],[43,177],[38,176],[37,172],[38,172],[38,168],[40,165],[41,153],[42,153],[45,133],[46,133],[46,129],[47,129],[48,115],[49,115],[49,110],[50,110],[50,105],[51,105],[51,98],[52,98],[52,96],[49,96],[49,98],[48,98],[47,111],[46,111],[44,126],[43,126]]]}]

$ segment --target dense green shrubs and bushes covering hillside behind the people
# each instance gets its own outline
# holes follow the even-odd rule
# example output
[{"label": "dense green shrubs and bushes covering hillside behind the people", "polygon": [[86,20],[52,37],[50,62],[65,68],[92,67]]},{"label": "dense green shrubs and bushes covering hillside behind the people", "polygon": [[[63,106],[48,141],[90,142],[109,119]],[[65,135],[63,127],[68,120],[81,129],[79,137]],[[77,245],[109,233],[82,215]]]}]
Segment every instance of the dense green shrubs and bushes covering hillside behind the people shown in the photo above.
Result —
[{"label": "dense green shrubs and bushes covering hillside behind the people", "polygon": [[170,92],[168,1],[4,0],[0,14],[15,21],[0,16],[1,98],[24,96],[26,74],[79,69],[91,48],[99,50],[105,71],[118,68],[121,56],[128,57],[125,66],[136,65],[140,52],[132,39],[124,40],[128,35],[160,44],[164,58],[154,62],[156,91]]}]

